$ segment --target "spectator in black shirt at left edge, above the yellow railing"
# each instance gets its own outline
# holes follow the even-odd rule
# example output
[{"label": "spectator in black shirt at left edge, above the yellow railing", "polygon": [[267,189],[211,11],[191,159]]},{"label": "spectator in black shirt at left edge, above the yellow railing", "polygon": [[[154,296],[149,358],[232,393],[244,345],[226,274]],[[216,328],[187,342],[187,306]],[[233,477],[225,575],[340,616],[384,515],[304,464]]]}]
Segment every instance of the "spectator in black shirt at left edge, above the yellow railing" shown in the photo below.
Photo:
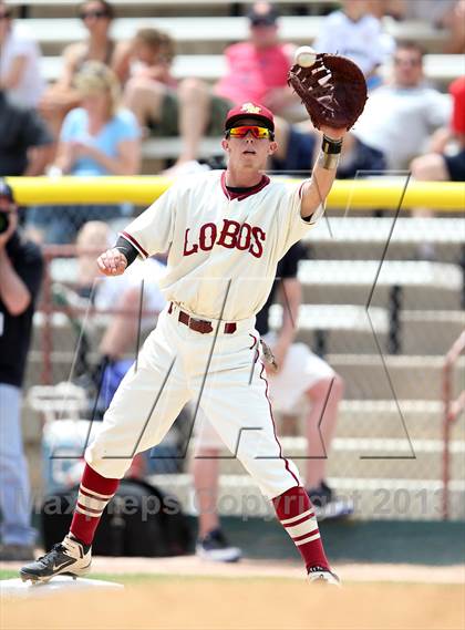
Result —
[{"label": "spectator in black shirt at left edge, above the yellow railing", "polygon": [[0,176],[42,175],[52,142],[39,115],[12,103],[0,89]]}]

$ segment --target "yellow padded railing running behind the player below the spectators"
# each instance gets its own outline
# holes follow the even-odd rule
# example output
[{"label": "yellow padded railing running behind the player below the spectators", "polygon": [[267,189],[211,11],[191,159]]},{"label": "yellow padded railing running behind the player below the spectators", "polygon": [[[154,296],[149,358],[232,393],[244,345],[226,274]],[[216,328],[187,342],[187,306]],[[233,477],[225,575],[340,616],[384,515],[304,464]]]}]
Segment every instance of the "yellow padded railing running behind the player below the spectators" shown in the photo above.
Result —
[{"label": "yellow padded railing running behind the player below the spectators", "polygon": [[[8,177],[20,205],[113,204],[131,202],[147,206],[173,183],[163,176],[134,177]],[[332,208],[391,209],[399,206],[405,177],[338,180],[328,197]],[[463,183],[410,180],[403,209],[415,207],[461,211],[465,207]]]}]

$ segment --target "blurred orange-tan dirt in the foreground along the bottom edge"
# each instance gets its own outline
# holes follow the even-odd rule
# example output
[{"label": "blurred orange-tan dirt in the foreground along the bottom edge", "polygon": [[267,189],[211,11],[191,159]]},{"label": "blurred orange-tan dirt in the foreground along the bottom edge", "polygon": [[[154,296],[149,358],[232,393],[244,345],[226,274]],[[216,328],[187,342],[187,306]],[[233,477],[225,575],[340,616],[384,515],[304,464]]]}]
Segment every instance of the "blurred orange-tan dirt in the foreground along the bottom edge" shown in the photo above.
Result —
[{"label": "blurred orange-tan dirt in the foreground along the bottom edge", "polygon": [[[42,588],[42,587],[39,587]],[[286,578],[144,578],[122,592],[7,601],[2,630],[463,630],[461,585],[311,587]]]}]

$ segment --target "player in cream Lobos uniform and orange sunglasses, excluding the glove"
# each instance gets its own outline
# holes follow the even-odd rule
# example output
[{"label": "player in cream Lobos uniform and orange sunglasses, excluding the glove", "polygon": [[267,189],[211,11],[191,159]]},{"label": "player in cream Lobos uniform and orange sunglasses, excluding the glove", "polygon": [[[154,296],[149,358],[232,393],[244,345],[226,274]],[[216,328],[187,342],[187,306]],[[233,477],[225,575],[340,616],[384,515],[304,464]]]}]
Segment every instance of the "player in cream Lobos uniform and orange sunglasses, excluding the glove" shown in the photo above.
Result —
[{"label": "player in cream Lobos uniform and orange sunglasses, excluding the glove", "polygon": [[279,259],[324,211],[347,132],[321,131],[311,178],[271,182],[264,169],[277,149],[272,113],[251,102],[234,107],[225,121],[226,171],[177,179],[97,259],[102,273],[118,276],[137,256],[168,251],[159,282],[168,303],[86,448],[69,535],[24,566],[23,580],[90,570],[100,517],[135,453],[158,444],[194,401],[271,500],[309,580],[339,582],[299,472],[276,435],[255,327]]}]

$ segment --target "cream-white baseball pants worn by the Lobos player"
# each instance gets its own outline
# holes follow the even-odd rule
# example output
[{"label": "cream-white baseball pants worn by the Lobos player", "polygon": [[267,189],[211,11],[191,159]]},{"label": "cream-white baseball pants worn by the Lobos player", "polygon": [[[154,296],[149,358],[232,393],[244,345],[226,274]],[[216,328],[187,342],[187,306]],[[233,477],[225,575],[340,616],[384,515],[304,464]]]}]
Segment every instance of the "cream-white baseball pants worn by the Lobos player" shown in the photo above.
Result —
[{"label": "cream-white baseball pants worn by the Lobos player", "polygon": [[205,380],[200,409],[262,494],[273,498],[301,484],[276,436],[255,318],[236,323],[236,332],[226,334],[219,322],[215,342],[215,332],[202,334],[179,322],[177,306],[170,313],[166,308],[87,447],[87,464],[104,477],[122,478],[134,455],[158,444],[183,406],[198,399]]}]

